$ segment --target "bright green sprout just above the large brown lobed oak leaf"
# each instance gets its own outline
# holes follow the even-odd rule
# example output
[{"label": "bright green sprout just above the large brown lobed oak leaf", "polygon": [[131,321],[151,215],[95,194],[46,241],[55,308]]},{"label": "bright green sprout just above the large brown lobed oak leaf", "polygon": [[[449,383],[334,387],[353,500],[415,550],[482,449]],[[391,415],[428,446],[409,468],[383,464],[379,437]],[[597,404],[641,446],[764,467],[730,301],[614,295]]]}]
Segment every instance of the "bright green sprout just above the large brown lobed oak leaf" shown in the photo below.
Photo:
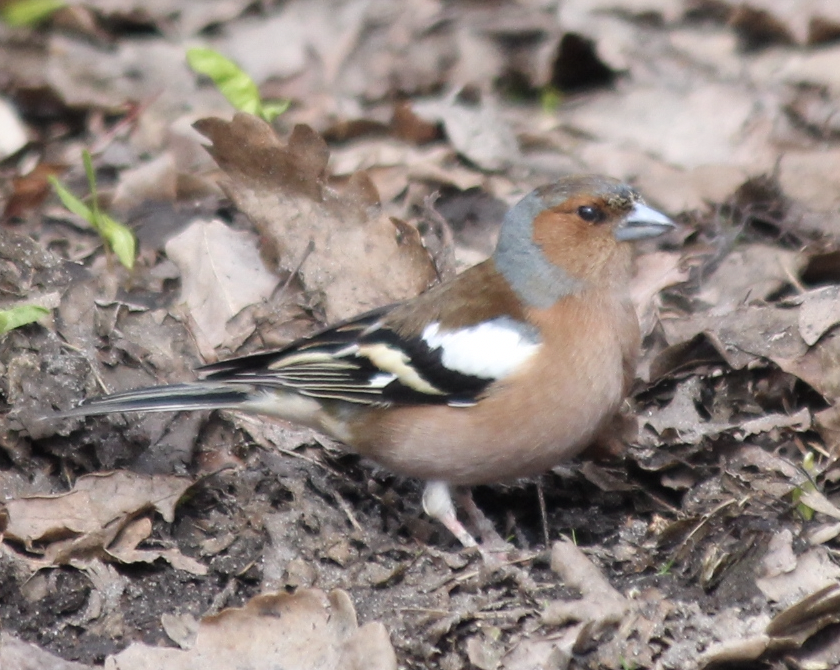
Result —
[{"label": "bright green sprout just above the large brown lobed oak leaf", "polygon": [[210,77],[228,102],[242,112],[254,114],[271,123],[289,108],[288,100],[264,102],[254,80],[218,51],[190,49],[187,51],[187,63],[198,74]]}]

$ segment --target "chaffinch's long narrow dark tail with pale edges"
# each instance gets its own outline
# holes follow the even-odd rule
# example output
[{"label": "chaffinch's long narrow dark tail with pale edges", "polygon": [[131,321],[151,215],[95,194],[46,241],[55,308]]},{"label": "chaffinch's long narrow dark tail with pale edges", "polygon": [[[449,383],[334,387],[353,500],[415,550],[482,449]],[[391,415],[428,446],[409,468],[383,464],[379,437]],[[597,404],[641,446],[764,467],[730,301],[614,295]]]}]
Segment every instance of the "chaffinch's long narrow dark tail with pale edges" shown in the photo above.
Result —
[{"label": "chaffinch's long narrow dark tail with pale edges", "polygon": [[235,409],[254,398],[253,389],[221,382],[194,382],[123,391],[85,400],[78,407],[49,418],[93,416],[113,412],[177,412],[197,409]]}]

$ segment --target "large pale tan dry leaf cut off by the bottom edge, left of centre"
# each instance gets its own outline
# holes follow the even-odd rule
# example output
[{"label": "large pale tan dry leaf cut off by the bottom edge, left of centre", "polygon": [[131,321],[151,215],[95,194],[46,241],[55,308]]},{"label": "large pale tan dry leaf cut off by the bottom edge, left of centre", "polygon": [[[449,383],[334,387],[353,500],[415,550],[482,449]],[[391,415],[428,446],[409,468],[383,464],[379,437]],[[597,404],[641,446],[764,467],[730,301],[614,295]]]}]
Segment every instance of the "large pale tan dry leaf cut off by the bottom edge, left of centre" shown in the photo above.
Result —
[{"label": "large pale tan dry leaf cut off by the bottom edge, left of centre", "polygon": [[346,592],[318,589],[259,595],[245,607],[206,617],[188,651],[133,644],[108,670],[395,670],[381,623],[359,627]]}]

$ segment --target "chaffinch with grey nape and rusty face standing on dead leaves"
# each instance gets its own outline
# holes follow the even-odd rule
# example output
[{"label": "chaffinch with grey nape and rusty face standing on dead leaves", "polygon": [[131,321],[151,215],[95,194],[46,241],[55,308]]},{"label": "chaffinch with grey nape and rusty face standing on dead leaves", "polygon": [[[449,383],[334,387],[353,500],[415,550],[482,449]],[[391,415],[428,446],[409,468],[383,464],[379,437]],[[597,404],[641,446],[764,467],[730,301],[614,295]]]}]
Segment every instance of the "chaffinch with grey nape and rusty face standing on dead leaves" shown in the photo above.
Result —
[{"label": "chaffinch with grey nape and rusty face standing on dead leaves", "polygon": [[426,480],[426,512],[474,546],[450,486],[538,474],[593,440],[640,346],[628,243],[673,226],[626,184],[566,177],[507,213],[491,258],[416,298],[64,415],[229,409],[304,424]]}]

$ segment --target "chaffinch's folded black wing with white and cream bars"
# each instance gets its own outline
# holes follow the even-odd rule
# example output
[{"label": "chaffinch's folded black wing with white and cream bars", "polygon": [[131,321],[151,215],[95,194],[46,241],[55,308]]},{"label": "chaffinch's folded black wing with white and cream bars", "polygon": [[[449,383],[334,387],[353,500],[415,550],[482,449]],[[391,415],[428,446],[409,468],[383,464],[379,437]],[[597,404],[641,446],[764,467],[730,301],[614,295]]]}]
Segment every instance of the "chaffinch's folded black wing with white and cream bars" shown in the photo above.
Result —
[{"label": "chaffinch's folded black wing with white and cream bars", "polygon": [[324,400],[469,406],[540,346],[534,328],[508,315],[455,329],[431,321],[419,333],[401,334],[388,323],[390,310],[201,372],[207,382],[280,388]]}]

